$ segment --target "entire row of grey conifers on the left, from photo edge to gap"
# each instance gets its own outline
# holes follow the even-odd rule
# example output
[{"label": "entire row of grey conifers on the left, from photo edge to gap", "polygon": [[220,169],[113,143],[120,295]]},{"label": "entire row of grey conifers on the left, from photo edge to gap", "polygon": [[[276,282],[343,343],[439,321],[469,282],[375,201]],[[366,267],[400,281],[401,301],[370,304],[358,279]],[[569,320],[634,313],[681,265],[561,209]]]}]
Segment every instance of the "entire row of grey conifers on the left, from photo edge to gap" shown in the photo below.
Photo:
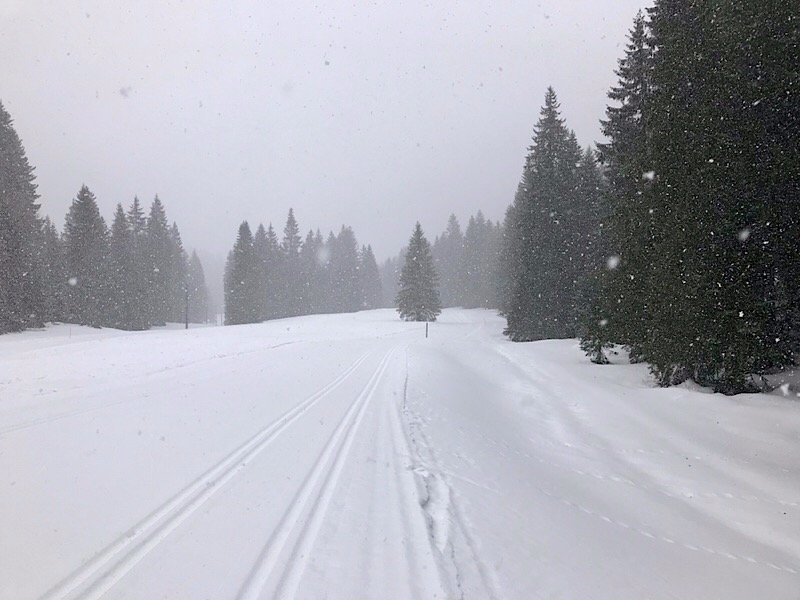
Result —
[{"label": "entire row of grey conifers on the left, from photo edge to gap", "polygon": [[0,333],[61,321],[148,329],[209,318],[203,267],[183,249],[156,196],[145,216],[134,198],[111,229],[81,187],[59,233],[39,216],[33,167],[0,103]]}]

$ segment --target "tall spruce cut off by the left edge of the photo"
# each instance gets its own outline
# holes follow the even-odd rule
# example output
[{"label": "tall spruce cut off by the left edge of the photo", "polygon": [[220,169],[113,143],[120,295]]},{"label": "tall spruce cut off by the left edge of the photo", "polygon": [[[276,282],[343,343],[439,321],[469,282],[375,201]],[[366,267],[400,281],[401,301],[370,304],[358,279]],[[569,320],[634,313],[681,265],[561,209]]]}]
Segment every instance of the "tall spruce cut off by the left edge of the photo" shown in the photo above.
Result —
[{"label": "tall spruce cut off by the left edge of the photo", "polygon": [[0,333],[44,323],[35,179],[11,116],[0,103]]}]

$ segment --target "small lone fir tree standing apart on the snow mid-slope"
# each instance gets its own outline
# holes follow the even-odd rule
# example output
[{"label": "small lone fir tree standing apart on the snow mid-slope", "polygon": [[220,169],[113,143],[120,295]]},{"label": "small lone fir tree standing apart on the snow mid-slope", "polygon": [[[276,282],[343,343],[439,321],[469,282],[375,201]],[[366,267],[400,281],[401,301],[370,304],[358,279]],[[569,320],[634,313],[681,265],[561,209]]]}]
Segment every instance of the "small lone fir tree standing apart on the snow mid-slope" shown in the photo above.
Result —
[{"label": "small lone fir tree standing apart on the snow mid-slope", "polygon": [[397,293],[400,318],[404,321],[435,321],[442,312],[438,284],[431,246],[417,223],[400,272],[400,291]]}]

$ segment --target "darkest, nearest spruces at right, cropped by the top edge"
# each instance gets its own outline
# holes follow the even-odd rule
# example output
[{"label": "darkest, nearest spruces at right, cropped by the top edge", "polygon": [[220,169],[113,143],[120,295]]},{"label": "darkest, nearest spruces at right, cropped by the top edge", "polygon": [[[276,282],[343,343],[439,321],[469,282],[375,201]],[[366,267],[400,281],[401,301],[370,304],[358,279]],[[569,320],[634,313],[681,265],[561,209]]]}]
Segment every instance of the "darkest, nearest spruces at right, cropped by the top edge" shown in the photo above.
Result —
[{"label": "darkest, nearest spruces at right, cropped by the top edge", "polygon": [[796,14],[658,0],[649,15],[603,122],[619,266],[600,278],[608,328],[584,344],[627,344],[662,385],[755,389],[798,347]]}]

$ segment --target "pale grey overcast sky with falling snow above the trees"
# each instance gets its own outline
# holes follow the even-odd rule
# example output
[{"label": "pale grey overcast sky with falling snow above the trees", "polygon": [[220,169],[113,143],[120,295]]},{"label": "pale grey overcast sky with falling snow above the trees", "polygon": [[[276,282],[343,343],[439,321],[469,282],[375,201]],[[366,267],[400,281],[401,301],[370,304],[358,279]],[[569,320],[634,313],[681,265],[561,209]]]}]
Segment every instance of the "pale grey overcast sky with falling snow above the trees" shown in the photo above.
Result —
[{"label": "pale grey overcast sky with falling snow above the trees", "polygon": [[416,220],[502,219],[552,85],[581,144],[644,0],[3,0],[0,99],[60,226],[158,193],[188,249],[238,224],[352,225],[379,260]]}]

